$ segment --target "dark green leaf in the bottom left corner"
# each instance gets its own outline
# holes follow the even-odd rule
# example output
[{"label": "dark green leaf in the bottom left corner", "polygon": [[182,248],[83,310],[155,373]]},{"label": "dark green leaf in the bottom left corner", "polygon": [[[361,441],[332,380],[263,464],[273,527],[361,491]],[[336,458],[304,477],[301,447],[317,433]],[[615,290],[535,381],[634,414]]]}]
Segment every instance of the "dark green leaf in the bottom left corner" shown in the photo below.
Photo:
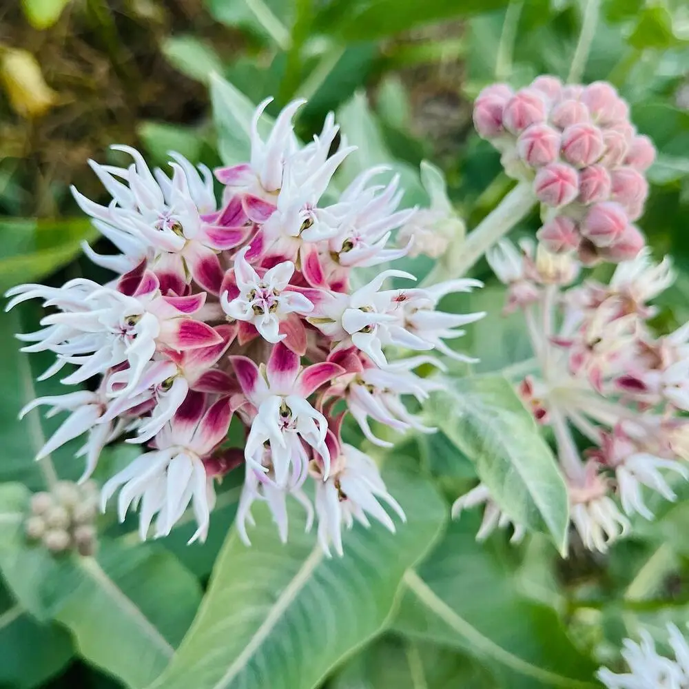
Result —
[{"label": "dark green leaf in the bottom left corner", "polygon": [[0,686],[32,689],[57,675],[72,659],[68,632],[40,624],[14,604],[0,613]]}]

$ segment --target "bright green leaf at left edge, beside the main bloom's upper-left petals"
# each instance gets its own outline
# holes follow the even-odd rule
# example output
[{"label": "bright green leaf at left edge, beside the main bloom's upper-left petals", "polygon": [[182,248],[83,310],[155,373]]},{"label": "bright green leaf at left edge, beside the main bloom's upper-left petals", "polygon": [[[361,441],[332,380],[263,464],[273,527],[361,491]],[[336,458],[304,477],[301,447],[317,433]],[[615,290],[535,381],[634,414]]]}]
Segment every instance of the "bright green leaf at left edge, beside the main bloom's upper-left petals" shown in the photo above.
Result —
[{"label": "bright green leaf at left edge, beside the main bloom's upper-left petals", "polygon": [[50,275],[97,234],[88,218],[0,220],[0,290]]}]

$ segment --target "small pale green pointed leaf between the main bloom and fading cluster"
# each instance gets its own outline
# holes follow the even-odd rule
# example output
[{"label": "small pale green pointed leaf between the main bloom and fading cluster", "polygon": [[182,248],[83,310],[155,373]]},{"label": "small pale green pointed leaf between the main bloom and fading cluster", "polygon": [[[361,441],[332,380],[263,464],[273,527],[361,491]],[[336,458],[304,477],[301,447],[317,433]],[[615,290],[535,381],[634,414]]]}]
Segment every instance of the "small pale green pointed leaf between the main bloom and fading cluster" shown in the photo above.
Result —
[{"label": "small pale green pointed leaf between the main bloom and fading cluster", "polygon": [[446,379],[431,397],[433,422],[476,464],[482,482],[515,522],[566,551],[569,502],[553,453],[502,376]]}]

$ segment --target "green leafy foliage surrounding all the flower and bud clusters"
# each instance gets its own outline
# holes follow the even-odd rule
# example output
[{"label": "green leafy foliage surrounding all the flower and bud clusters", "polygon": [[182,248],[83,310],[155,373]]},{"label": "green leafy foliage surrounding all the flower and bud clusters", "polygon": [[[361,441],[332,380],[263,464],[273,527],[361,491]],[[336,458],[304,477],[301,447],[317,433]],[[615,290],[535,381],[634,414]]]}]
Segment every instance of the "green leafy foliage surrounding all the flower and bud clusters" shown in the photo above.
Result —
[{"label": "green leafy foliage surrounding all the flower and bud clusters", "polygon": [[[689,10],[680,0],[588,2],[599,21],[583,81],[612,81],[659,148],[641,226],[657,254],[671,252],[679,267],[657,319],[665,330],[689,318]],[[336,110],[360,149],[342,183],[392,160],[406,202],[424,205],[419,164],[437,163],[473,227],[511,183],[497,153],[473,134],[472,97],[496,79],[518,86],[544,72],[566,78],[586,5],[4,3],[0,287],[98,276],[79,257],[79,243],[94,231],[68,191],[74,183],[99,194],[86,158],[114,161],[108,144],[134,143],[156,163],[170,149],[208,165],[241,161],[252,104],[268,95],[273,115],[294,96],[309,98],[298,119],[302,138]],[[528,218],[515,233],[535,227]],[[430,267],[414,260],[418,274]],[[231,528],[241,480],[234,475],[204,546],[185,546],[191,524],[138,544],[134,527],[110,515],[101,519],[95,557],[50,559],[28,546],[29,491],[53,473],[74,478],[81,467],[74,446],[33,462],[50,422],[32,413],[19,426],[17,411],[55,384],[34,389],[47,364],[20,355],[11,335],[38,314],[27,307],[0,316],[0,686],[593,688],[597,665],[614,662],[620,639],[639,624],[659,630],[686,620],[688,503],[659,508],[658,524],[639,525],[606,557],[573,542],[560,559],[566,495],[557,476],[546,480],[547,494],[535,488],[552,466],[550,450],[500,375],[529,356],[528,345],[517,320],[500,318],[502,289],[485,264],[475,276],[488,280],[486,289],[454,306],[490,316],[461,345],[482,358],[478,372],[494,373],[461,380],[455,400],[435,400],[427,413],[442,433],[409,438],[393,456],[378,457],[409,522],[396,536],[355,528],[342,560],[314,548],[300,515],[281,546],[260,513],[247,550]],[[471,414],[448,413],[459,411],[456,395]],[[501,408],[490,423],[481,406],[488,399]],[[103,464],[126,462],[128,451],[106,451]],[[502,486],[504,502],[551,539],[533,535],[513,548],[500,535],[477,544],[477,515],[448,524],[451,500],[477,476],[498,492]]]}]

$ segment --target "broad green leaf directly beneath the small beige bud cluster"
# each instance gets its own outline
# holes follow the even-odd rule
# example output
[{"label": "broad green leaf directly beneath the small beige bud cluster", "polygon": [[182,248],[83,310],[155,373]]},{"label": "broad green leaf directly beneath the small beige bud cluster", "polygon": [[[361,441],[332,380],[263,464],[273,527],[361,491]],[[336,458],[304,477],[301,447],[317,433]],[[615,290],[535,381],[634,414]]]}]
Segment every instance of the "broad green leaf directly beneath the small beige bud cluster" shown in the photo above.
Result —
[{"label": "broad green leaf directly beneath the small beige bud cluster", "polygon": [[19,603],[68,627],[78,652],[138,688],[172,657],[200,602],[196,578],[157,544],[103,539],[95,557],[52,557],[23,533],[29,492],[0,486],[0,570]]}]

